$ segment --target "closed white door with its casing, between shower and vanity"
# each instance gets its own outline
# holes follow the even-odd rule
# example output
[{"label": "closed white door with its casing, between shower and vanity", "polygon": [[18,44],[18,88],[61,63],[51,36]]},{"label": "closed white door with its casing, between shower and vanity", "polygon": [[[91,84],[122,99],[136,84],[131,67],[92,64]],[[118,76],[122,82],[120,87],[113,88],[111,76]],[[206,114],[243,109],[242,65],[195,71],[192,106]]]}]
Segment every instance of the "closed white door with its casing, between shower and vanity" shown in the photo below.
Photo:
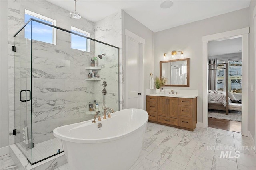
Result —
[{"label": "closed white door with its casing, between shower and vanity", "polygon": [[125,30],[125,108],[144,109],[145,40]]}]

